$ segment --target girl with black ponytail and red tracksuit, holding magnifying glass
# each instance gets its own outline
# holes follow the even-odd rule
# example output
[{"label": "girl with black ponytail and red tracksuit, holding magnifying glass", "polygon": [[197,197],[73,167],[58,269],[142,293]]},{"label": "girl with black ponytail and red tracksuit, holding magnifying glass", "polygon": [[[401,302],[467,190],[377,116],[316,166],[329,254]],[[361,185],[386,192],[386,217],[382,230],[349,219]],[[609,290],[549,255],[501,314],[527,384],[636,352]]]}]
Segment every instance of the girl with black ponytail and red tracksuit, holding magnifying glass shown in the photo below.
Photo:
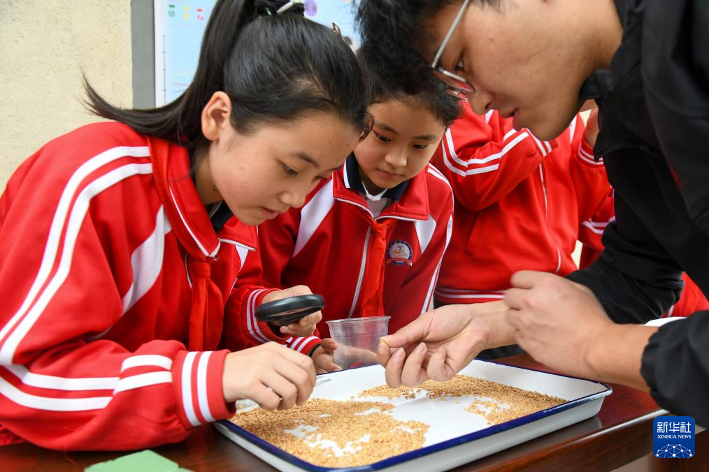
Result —
[{"label": "girl with black ponytail and red tracksuit, holding magnifying glass", "polygon": [[269,294],[241,283],[259,272],[252,225],[301,205],[366,129],[357,59],[302,7],[275,14],[285,4],[218,1],[181,97],[122,110],[87,86],[114,121],[53,140],[9,180],[1,443],[143,449],[228,418],[237,398],[306,401],[308,357],[222,348]]}]

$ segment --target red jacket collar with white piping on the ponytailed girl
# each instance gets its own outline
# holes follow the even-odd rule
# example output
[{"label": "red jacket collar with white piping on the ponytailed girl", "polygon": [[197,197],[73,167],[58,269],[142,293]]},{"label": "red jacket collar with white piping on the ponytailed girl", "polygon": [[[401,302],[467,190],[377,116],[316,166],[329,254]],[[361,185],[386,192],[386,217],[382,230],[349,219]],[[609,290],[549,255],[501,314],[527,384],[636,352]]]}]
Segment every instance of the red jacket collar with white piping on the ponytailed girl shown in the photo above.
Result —
[{"label": "red jacket collar with white piping on the ponytailed girl", "polygon": [[148,146],[155,186],[165,214],[191,258],[202,260],[216,255],[220,236],[256,247],[256,231],[235,218],[230,219],[217,236],[191,179],[189,155],[184,147],[156,137],[148,137]]}]

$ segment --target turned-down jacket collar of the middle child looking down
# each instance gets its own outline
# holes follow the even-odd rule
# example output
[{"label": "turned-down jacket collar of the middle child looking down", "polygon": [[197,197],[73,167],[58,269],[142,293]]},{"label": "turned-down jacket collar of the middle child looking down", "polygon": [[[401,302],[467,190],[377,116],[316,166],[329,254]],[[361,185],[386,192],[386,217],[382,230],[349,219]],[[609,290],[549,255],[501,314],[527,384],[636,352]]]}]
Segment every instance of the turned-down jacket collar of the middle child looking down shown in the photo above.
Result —
[{"label": "turned-down jacket collar of the middle child looking down", "polygon": [[[406,180],[396,187],[387,190],[384,197],[393,200],[389,207],[381,212],[378,219],[428,219],[428,186],[426,184],[426,173],[428,166],[413,178]],[[333,197],[335,200],[342,200],[352,203],[358,207],[367,209],[367,200],[359,194],[364,192],[362,179],[359,178],[359,164],[354,154],[350,154],[345,161],[345,165],[333,174]]]}]

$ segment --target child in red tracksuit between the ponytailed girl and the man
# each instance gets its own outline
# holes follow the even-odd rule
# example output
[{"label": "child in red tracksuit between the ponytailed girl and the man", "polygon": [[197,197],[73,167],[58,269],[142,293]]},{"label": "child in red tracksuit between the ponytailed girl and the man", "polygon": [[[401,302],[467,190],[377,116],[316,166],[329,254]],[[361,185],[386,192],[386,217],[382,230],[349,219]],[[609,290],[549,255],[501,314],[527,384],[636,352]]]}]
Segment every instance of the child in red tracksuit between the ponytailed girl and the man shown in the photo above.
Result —
[{"label": "child in red tracksuit between the ponytailed girl and the man", "polygon": [[[374,127],[367,139],[303,207],[259,226],[259,283],[323,294],[323,337],[328,320],[387,315],[393,332],[428,311],[451,234],[452,190],[429,161],[460,113],[457,99],[435,79],[414,97],[374,70],[369,76]],[[319,350],[318,335],[284,343],[313,354],[318,367],[336,368],[331,340]]]}]

